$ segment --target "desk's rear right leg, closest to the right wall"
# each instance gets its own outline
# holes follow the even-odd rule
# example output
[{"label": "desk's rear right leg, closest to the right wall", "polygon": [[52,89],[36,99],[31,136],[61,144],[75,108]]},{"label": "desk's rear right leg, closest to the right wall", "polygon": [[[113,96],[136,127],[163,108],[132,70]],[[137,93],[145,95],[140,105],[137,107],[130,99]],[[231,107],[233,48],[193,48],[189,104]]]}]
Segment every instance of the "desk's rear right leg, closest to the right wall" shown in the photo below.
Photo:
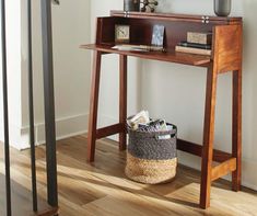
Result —
[{"label": "desk's rear right leg, closest to the right wall", "polygon": [[242,174],[242,70],[233,71],[232,156],[236,170],[232,172],[232,190],[241,190]]}]

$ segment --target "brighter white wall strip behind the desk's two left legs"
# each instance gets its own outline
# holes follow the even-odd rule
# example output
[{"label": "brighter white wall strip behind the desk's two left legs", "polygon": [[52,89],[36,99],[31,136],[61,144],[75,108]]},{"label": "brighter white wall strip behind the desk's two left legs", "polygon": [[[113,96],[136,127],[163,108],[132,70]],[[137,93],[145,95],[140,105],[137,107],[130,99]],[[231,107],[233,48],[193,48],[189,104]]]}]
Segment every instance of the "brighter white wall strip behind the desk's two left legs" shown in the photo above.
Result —
[{"label": "brighter white wall strip behind the desk's two left legs", "polygon": [[[122,1],[91,1],[91,42],[95,41],[95,22],[97,16],[108,16],[110,10],[120,10]],[[128,115],[141,109],[141,60],[129,57],[128,64]],[[118,56],[108,55],[103,57],[98,126],[117,123],[118,120]],[[112,95],[112,96],[109,96]]]}]

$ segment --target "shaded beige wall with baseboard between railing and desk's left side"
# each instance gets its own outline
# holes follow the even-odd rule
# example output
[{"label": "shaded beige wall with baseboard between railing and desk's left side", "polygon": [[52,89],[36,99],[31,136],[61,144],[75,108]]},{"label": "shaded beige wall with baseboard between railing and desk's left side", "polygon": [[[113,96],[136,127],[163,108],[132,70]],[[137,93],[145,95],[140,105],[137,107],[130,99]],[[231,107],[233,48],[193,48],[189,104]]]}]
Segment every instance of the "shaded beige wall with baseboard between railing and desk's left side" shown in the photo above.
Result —
[{"label": "shaded beige wall with baseboard between railing and desk's left side", "polygon": [[[45,138],[45,120],[40,1],[33,2],[33,31],[36,139],[37,143],[43,143]],[[89,39],[90,1],[61,0],[60,5],[52,5],[55,105],[58,138],[81,134],[86,130],[89,112],[90,54],[79,48],[79,46]],[[23,38],[23,44],[26,44],[26,37]],[[25,49],[26,47],[24,46],[23,50]],[[24,53],[24,73],[26,73],[26,53]],[[23,130],[26,133],[28,126],[26,101],[27,78],[26,76],[23,78],[22,125]]]}]

